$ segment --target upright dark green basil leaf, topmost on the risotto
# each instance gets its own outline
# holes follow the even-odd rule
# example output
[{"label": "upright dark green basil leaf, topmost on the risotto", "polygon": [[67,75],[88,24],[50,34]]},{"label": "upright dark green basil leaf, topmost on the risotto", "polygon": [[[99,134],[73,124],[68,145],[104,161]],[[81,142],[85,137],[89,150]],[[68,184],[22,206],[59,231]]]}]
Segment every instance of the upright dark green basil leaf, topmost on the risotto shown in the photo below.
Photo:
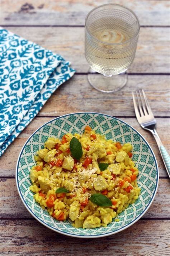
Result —
[{"label": "upright dark green basil leaf, topmost on the risotto", "polygon": [[73,137],[70,141],[70,151],[72,157],[74,157],[76,160],[80,160],[82,157],[82,147],[79,140],[77,140],[75,137]]}]

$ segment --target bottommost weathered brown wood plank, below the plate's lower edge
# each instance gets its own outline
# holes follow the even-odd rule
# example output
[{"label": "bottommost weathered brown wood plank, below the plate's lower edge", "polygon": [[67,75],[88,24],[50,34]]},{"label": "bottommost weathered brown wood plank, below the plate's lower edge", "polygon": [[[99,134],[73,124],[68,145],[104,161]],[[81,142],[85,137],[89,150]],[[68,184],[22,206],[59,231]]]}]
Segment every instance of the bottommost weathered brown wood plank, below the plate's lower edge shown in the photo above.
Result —
[{"label": "bottommost weathered brown wood plank, below the plate's lower edge", "polygon": [[1,220],[0,222],[3,254],[169,255],[170,221],[168,220],[139,220],[120,233],[99,239],[67,237],[47,229],[36,220]]}]

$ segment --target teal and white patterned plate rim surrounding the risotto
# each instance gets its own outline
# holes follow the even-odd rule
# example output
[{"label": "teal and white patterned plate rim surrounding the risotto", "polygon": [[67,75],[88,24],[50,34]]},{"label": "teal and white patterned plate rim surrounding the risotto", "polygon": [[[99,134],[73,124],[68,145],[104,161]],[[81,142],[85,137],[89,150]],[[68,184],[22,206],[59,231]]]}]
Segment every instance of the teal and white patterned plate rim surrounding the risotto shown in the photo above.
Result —
[{"label": "teal and white patterned plate rim surrounding the risotto", "polygon": [[[97,133],[104,134],[107,139],[113,138],[114,141],[121,141],[121,143],[131,142],[133,145],[132,160],[136,162],[139,169],[137,182],[141,187],[140,196],[135,203],[129,205],[126,210],[117,216],[120,219],[119,222],[113,220],[106,228],[75,229],[70,221],[61,223],[61,221],[54,220],[46,210],[43,210],[36,203],[33,193],[29,190],[31,184],[29,169],[34,165],[34,154],[37,149],[43,147],[47,137],[58,136],[61,138],[63,134],[68,132],[73,134],[82,133],[85,125],[90,125]],[[101,130],[103,131],[101,132]],[[121,137],[119,137],[120,135]],[[42,143],[39,138],[41,138]],[[24,206],[30,214],[47,228],[71,237],[104,237],[118,233],[133,225],[151,206],[157,192],[158,182],[159,169],[156,157],[145,138],[131,125],[119,118],[96,112],[66,114],[44,123],[25,142],[16,164],[16,187]]]}]

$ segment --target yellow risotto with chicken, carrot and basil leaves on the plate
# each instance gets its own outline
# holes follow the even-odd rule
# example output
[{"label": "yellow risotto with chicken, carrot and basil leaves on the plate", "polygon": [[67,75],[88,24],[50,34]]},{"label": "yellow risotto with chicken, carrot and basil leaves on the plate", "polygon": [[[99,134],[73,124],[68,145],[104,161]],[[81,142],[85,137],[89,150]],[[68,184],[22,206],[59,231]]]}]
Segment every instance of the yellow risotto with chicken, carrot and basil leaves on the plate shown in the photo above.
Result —
[{"label": "yellow risotto with chicken, carrot and basil leaves on the plate", "polygon": [[140,194],[131,151],[131,144],[106,140],[89,126],[82,135],[48,138],[30,170],[30,190],[58,221],[106,227]]}]

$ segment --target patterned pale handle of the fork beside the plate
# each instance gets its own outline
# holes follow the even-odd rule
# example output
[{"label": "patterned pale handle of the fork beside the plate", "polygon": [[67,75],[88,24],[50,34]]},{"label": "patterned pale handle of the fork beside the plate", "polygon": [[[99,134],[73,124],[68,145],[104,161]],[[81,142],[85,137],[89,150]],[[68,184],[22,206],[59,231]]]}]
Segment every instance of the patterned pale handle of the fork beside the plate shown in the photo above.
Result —
[{"label": "patterned pale handle of the fork beside the plate", "polygon": [[162,144],[162,142],[159,138],[159,135],[157,134],[157,131],[154,129],[151,132],[154,135],[156,143],[159,147],[159,151],[161,153],[162,160],[163,160],[164,165],[166,167],[167,174],[169,175],[169,178],[170,178],[170,156],[169,156],[168,152],[166,151],[164,145]]}]

